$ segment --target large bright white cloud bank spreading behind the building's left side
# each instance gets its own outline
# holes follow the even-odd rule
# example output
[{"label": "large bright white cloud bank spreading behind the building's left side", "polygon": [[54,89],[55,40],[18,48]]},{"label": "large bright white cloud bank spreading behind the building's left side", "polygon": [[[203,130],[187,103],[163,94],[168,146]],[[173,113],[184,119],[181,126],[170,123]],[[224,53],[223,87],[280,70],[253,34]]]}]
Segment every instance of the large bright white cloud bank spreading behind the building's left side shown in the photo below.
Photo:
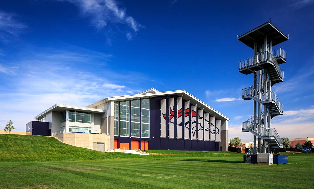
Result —
[{"label": "large bright white cloud bank spreading behind the building's left side", "polygon": [[[15,130],[25,130],[28,121],[55,103],[86,106],[108,96],[133,93],[146,79],[135,72],[95,70],[98,62],[110,62],[110,55],[86,49],[47,49],[26,54],[22,60],[10,63],[10,67],[0,62],[0,74],[14,75],[4,76],[7,82],[0,82],[0,125],[13,120]],[[12,68],[14,73],[9,72]]]}]

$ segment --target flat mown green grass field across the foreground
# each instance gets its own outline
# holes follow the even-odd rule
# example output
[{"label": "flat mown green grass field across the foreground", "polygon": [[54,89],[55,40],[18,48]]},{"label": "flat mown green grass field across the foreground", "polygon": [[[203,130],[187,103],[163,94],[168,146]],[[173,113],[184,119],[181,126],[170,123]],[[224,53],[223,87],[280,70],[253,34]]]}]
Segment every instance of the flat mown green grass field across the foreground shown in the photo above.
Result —
[{"label": "flat mown green grass field across the foreground", "polygon": [[[0,137],[2,143],[5,137]],[[5,146],[0,148],[3,156]],[[50,148],[42,149],[45,150],[42,153],[51,156],[53,147]],[[70,156],[68,153],[73,151],[63,151],[63,155]],[[18,156],[8,157],[8,161],[2,157],[0,188],[313,188],[313,154],[288,153],[288,164],[254,165],[242,163],[243,154],[237,153],[182,151],[184,154],[166,155],[164,151],[159,152],[163,155],[111,153],[109,156],[99,152],[105,155],[97,157],[106,157],[106,160],[97,161],[28,162],[24,159],[24,162],[13,162]],[[88,156],[87,152],[83,154]]]}]

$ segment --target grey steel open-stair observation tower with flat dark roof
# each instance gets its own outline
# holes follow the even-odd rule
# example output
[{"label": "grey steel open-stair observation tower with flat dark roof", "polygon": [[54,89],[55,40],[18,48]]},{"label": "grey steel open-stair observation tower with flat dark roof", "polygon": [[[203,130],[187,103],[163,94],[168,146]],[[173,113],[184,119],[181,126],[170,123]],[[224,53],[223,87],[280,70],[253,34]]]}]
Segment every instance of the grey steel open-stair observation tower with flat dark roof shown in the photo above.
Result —
[{"label": "grey steel open-stair observation tower with flat dark roof", "polygon": [[254,74],[254,83],[242,89],[242,99],[253,100],[254,104],[253,115],[242,122],[242,132],[254,135],[254,148],[249,153],[266,153],[266,145],[270,153],[270,148],[283,148],[283,138],[271,127],[271,119],[284,114],[284,105],[272,91],[272,86],[284,81],[284,71],[279,65],[286,63],[286,52],[272,50],[272,47],[288,37],[267,22],[238,36],[238,40],[254,50],[254,56],[239,62],[240,73]]}]

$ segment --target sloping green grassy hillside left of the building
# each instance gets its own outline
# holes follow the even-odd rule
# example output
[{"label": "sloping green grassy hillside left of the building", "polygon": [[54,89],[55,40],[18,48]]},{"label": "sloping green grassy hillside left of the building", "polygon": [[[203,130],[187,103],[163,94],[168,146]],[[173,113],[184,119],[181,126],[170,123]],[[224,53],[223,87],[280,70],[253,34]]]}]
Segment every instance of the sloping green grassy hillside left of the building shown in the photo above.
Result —
[{"label": "sloping green grassy hillside left of the building", "polygon": [[64,144],[53,137],[0,134],[0,162],[84,161],[139,157]]}]

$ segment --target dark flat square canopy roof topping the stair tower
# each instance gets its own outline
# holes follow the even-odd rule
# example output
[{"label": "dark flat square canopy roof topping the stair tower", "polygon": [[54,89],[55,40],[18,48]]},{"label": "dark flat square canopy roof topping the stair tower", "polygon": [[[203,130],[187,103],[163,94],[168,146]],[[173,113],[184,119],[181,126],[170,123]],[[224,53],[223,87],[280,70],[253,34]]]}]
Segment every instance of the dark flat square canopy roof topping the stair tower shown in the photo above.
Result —
[{"label": "dark flat square canopy roof topping the stair tower", "polygon": [[272,46],[288,40],[288,37],[276,28],[272,23],[266,22],[238,37],[238,40],[254,49],[254,41],[264,43],[265,36],[272,39]]}]

